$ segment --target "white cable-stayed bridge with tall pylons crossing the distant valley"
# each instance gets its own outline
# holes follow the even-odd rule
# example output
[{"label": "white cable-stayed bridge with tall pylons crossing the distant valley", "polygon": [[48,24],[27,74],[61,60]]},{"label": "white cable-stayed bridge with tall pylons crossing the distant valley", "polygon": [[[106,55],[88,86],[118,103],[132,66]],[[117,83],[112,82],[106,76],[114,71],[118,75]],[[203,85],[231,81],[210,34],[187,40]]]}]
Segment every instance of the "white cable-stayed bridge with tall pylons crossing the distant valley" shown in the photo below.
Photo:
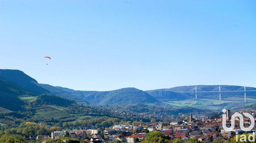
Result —
[{"label": "white cable-stayed bridge with tall pylons crossing the distant valley", "polygon": [[[195,89],[195,90],[194,90]],[[197,91],[197,86],[195,87],[195,88],[193,88],[193,89],[191,89],[191,90],[193,90],[193,91],[188,91],[188,92],[177,92],[177,93],[195,93],[195,95],[196,95],[196,98],[197,98],[197,93],[211,93],[211,92],[218,92],[219,93],[219,100],[221,101],[221,93],[222,92],[244,92],[244,101],[246,101],[246,92],[256,92],[256,90],[247,90],[246,91],[246,88],[245,88],[245,85],[244,85],[244,90],[242,90],[241,88],[239,88],[239,89],[237,89],[237,90],[234,90],[234,91],[229,91],[229,90],[224,90],[224,91],[221,91],[221,85],[219,85],[219,87],[218,88],[216,88],[216,89],[218,89],[218,91]],[[216,89],[214,89],[214,90],[216,90]],[[225,89],[225,88],[223,88],[223,89]],[[174,91],[175,92],[175,91]]]}]

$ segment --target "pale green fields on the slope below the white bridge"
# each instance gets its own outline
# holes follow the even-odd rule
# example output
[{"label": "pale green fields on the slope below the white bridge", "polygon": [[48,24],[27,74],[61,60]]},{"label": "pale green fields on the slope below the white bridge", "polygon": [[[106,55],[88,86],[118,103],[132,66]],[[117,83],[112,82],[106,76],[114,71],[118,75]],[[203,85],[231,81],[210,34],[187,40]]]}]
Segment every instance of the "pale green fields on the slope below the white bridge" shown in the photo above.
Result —
[{"label": "pale green fields on the slope below the white bridge", "polygon": [[202,109],[212,109],[212,110],[221,110],[221,108],[227,108],[223,104],[233,104],[233,107],[229,107],[230,109],[236,108],[238,104],[244,105],[252,105],[256,103],[256,99],[246,98],[246,102],[244,98],[237,98],[237,97],[228,97],[222,98],[221,101],[218,99],[186,99],[181,101],[165,101],[163,103],[169,104],[172,107],[195,107],[195,108],[202,108]]}]

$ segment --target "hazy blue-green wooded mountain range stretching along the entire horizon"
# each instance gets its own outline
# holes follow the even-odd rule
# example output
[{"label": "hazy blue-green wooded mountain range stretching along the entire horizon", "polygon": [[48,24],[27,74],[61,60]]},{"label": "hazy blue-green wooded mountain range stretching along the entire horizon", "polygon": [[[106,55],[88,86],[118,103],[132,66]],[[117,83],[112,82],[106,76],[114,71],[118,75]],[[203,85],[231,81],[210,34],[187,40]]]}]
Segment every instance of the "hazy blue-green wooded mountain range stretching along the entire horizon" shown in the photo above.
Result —
[{"label": "hazy blue-green wooded mountain range stretching along the entire horizon", "polygon": [[[219,85],[190,85],[177,86],[169,89],[156,89],[142,91],[136,88],[123,88],[113,91],[76,91],[60,86],[39,84],[36,80],[20,70],[0,69],[0,96],[6,106],[15,102],[21,105],[22,100],[15,98],[9,100],[8,96],[39,96],[41,94],[56,95],[65,99],[74,100],[77,104],[91,105],[134,105],[134,104],[160,104],[166,100],[186,100],[195,98],[195,88],[200,91],[219,91]],[[243,91],[244,86],[221,85],[221,91]],[[246,90],[255,90],[246,87]],[[192,92],[192,93],[180,93]],[[218,92],[197,93],[198,98],[218,98]],[[243,97],[243,92],[225,92],[222,97]],[[246,93],[247,98],[256,98],[256,92]],[[3,105],[5,105],[5,103]],[[20,103],[20,104],[19,104]],[[5,108],[4,106],[1,106]],[[15,108],[15,107],[13,107]],[[8,108],[6,108],[8,109]],[[8,109],[10,110],[10,109]],[[12,109],[14,110],[14,109]]]}]

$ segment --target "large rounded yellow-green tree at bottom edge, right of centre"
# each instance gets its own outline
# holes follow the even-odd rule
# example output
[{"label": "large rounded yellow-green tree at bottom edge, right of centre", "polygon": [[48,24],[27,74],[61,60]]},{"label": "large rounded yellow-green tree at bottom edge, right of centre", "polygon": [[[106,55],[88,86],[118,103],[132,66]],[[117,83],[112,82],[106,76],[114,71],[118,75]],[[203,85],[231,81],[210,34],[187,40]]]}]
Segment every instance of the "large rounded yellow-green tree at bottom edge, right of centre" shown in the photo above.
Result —
[{"label": "large rounded yellow-green tree at bottom edge, right of centre", "polygon": [[142,143],[170,143],[170,138],[162,132],[151,131],[147,134],[147,137]]}]

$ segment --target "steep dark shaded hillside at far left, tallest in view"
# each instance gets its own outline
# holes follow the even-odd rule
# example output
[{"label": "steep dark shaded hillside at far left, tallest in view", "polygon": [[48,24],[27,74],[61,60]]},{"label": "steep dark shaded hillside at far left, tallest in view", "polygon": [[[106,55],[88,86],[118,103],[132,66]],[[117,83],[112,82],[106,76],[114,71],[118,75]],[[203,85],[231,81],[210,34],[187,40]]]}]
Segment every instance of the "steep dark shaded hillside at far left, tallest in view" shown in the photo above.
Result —
[{"label": "steep dark shaded hillside at far left, tallest in view", "polygon": [[0,69],[0,107],[11,111],[23,111],[25,103],[18,97],[38,96],[44,93],[50,92],[22,71]]}]

